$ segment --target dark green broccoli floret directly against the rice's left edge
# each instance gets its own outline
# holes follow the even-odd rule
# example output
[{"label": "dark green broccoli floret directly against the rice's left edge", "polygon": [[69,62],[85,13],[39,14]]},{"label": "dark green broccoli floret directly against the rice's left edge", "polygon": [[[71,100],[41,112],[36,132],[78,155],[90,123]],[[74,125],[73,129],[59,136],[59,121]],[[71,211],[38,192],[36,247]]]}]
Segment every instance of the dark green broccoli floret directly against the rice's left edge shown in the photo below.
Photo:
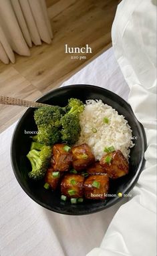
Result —
[{"label": "dark green broccoli floret directly against the rice's left edge", "polygon": [[80,120],[77,114],[65,114],[61,118],[61,139],[69,145],[75,144],[81,132]]}]

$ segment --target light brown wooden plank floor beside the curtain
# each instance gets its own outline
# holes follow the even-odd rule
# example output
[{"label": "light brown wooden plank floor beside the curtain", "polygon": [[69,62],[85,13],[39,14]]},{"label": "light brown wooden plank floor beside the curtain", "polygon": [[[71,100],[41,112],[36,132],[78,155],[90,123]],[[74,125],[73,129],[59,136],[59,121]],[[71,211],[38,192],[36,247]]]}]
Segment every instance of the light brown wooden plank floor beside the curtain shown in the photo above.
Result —
[{"label": "light brown wooden plank floor beside the curtain", "polygon": [[[35,100],[61,85],[77,70],[111,46],[111,27],[116,0],[46,0],[53,40],[32,47],[31,57],[16,55],[16,63],[0,62],[0,95]],[[71,59],[70,47],[92,47],[84,59]],[[25,111],[23,107],[0,105],[0,132]]]}]

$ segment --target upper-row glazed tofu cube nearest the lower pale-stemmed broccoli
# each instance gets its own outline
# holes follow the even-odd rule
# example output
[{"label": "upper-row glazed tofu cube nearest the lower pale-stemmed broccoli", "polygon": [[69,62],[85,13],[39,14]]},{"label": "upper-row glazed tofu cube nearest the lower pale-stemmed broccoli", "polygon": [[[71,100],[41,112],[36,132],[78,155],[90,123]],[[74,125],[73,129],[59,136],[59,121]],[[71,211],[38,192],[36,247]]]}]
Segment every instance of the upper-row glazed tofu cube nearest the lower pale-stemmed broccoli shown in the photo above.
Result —
[{"label": "upper-row glazed tofu cube nearest the lower pale-stemmed broccoli", "polygon": [[56,172],[67,172],[71,166],[72,154],[64,149],[65,146],[65,144],[55,144],[53,146],[51,163]]}]

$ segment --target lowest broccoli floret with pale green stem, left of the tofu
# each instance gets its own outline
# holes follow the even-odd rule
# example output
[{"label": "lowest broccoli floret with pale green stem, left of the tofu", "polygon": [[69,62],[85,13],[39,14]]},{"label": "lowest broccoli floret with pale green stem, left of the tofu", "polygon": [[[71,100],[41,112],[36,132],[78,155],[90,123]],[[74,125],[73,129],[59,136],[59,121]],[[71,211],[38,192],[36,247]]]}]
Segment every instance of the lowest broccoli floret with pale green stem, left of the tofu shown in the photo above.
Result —
[{"label": "lowest broccoli floret with pale green stem, left of the tofu", "polygon": [[[36,143],[36,142],[33,142]],[[31,145],[31,148],[40,148],[40,145]],[[29,172],[29,178],[39,180],[43,178],[49,164],[51,162],[51,147],[41,146],[40,150],[31,149],[27,154],[27,158],[31,162],[32,170]]]}]

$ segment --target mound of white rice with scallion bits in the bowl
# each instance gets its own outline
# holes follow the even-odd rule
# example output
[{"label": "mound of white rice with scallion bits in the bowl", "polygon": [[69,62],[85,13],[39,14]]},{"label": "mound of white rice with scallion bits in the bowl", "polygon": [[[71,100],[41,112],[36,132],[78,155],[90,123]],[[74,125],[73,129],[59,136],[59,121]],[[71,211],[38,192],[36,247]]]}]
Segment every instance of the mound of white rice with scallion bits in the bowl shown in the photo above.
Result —
[{"label": "mound of white rice with scallion bits in the bowl", "polygon": [[[108,118],[109,123],[104,123]],[[87,143],[96,160],[100,160],[106,154],[104,148],[114,146],[115,150],[121,150],[126,158],[129,157],[132,142],[132,130],[124,116],[104,104],[102,100],[87,100],[84,112],[80,114],[81,134],[78,144]],[[92,130],[94,130],[94,133]]]}]

